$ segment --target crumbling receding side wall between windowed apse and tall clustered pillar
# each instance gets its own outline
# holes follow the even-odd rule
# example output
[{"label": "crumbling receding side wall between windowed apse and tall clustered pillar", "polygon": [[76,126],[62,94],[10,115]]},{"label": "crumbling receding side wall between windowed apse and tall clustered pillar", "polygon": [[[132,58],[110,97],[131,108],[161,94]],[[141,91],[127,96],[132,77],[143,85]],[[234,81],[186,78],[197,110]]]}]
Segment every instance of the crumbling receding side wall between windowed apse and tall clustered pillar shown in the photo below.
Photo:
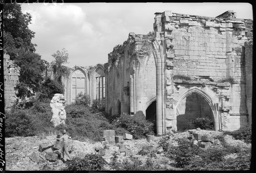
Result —
[{"label": "crumbling receding side wall between windowed apse and tall clustered pillar", "polygon": [[[147,103],[156,96],[156,66],[152,56],[153,33],[136,35],[129,33],[123,45],[114,47],[108,54],[106,111],[146,118]],[[128,87],[128,88],[127,88]],[[125,89],[129,89],[129,95]]]}]

